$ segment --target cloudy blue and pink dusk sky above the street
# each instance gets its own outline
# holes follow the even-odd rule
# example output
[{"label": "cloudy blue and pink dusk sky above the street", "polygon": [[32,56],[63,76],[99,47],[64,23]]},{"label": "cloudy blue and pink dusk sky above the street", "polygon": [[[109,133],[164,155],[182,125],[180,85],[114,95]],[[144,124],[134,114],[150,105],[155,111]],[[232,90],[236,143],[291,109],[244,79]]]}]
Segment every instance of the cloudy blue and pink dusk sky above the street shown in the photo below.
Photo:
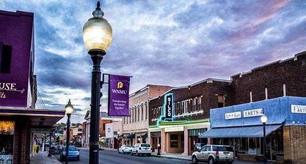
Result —
[{"label": "cloudy blue and pink dusk sky above the street", "polygon": [[[92,63],[82,38],[96,1],[1,0],[0,10],[35,13],[35,74],[49,109],[89,110]],[[147,84],[185,86],[222,78],[306,50],[304,1],[101,1],[113,28],[103,73]],[[107,110],[107,85],[101,111]],[[62,119],[61,121],[65,121]]]}]

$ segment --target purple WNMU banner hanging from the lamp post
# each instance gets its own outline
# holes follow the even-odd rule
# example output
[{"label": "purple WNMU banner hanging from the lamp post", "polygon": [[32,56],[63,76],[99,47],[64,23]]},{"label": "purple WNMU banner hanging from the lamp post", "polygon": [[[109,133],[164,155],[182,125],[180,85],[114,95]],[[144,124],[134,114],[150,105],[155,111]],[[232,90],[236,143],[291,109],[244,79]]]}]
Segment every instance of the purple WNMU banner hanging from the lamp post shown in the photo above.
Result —
[{"label": "purple WNMU banner hanging from the lamp post", "polygon": [[130,116],[130,76],[109,75],[109,116]]}]

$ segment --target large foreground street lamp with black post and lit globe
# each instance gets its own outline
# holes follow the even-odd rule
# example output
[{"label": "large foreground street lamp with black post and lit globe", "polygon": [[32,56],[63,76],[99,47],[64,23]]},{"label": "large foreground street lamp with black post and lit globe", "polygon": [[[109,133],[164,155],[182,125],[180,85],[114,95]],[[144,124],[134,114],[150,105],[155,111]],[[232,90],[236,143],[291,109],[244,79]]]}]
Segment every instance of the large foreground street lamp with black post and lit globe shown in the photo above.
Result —
[{"label": "large foreground street lamp with black post and lit globe", "polygon": [[101,87],[101,71],[100,64],[105,56],[105,50],[112,41],[112,27],[106,19],[103,18],[104,13],[100,9],[100,3],[92,12],[93,17],[88,19],[83,27],[83,40],[90,54],[93,70],[91,78],[91,103],[90,103],[90,135],[89,140],[89,163],[97,164],[99,158],[99,106]]}]

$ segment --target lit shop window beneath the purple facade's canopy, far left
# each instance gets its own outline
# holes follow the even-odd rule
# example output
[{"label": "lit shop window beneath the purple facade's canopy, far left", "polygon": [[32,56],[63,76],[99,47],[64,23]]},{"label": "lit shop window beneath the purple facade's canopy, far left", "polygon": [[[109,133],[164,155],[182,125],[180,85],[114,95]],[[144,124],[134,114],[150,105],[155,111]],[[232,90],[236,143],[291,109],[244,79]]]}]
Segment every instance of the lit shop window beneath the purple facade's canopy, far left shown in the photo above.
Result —
[{"label": "lit shop window beneath the purple facade's canopy, far left", "polygon": [[13,163],[14,121],[0,121],[0,163]]}]

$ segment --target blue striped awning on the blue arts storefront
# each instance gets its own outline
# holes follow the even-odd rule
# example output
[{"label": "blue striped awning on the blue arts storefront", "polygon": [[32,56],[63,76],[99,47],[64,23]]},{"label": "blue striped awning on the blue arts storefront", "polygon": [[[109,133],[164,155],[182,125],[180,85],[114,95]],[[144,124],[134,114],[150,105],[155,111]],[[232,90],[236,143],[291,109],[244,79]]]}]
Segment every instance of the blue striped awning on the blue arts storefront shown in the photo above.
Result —
[{"label": "blue striped awning on the blue arts storefront", "polygon": [[[270,124],[266,125],[266,135],[275,131],[283,124]],[[263,137],[263,126],[240,126],[240,127],[224,127],[224,128],[212,128],[203,134],[199,135],[199,138],[253,138]]]}]

